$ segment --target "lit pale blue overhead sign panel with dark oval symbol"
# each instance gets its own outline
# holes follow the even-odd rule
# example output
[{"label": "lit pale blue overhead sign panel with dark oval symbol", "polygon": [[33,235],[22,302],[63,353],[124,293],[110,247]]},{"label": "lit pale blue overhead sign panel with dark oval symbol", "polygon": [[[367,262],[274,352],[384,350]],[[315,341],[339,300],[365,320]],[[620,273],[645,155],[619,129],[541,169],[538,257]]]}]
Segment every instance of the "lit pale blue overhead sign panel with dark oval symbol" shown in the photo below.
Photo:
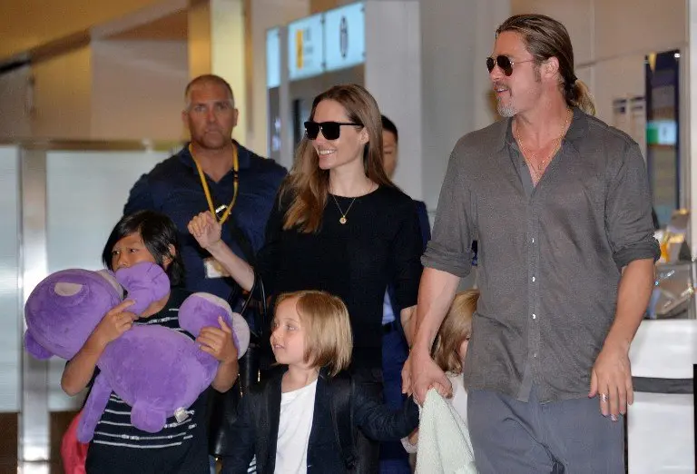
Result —
[{"label": "lit pale blue overhead sign panel with dark oval symbol", "polygon": [[343,69],[366,60],[366,9],[363,3],[324,14],[325,68]]}]

